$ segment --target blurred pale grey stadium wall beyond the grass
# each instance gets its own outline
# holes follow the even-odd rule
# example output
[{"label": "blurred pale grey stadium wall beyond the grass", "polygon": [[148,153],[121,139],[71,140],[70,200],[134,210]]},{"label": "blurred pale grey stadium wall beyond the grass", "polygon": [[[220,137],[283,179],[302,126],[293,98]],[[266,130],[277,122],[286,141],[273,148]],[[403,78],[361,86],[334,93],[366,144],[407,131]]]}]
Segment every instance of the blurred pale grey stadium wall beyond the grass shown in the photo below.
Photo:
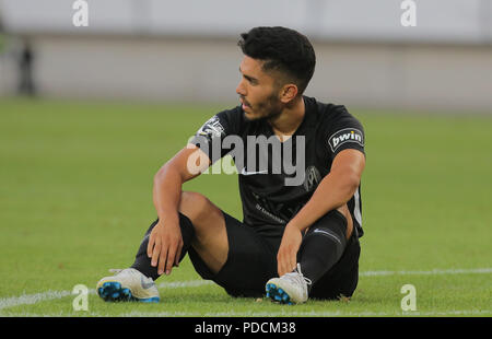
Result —
[{"label": "blurred pale grey stadium wall beyond the grass", "polygon": [[8,38],[0,95],[15,93],[27,44],[44,97],[236,102],[235,48],[256,25],[285,25],[314,43],[308,94],[361,107],[492,107],[492,2],[417,1],[403,27],[399,0],[97,0],[89,26],[74,1],[2,0]]}]

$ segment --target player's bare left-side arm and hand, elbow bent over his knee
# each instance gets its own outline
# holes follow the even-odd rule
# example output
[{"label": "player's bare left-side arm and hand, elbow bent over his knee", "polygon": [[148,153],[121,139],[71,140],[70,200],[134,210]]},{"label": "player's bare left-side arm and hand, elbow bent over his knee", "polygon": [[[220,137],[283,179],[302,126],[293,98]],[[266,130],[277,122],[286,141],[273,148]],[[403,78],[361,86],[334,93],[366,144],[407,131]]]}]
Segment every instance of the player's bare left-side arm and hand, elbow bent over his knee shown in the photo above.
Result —
[{"label": "player's bare left-side arm and hand, elbow bent over his knee", "polygon": [[[196,160],[192,165],[198,171],[190,171],[190,159]],[[160,274],[169,274],[173,266],[179,262],[183,247],[178,218],[181,186],[209,165],[210,160],[201,150],[188,145],[166,162],[154,176],[153,200],[159,223],[150,234],[147,253],[152,258],[151,265],[159,265]]]}]

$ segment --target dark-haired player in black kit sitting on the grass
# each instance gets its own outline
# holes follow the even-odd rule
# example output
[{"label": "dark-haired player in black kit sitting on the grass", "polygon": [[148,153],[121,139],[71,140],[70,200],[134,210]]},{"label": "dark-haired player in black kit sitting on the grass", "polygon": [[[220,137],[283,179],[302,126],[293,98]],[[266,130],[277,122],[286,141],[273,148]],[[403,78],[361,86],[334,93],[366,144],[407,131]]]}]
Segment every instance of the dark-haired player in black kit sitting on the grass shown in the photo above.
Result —
[{"label": "dark-haired player in black kit sitting on the grass", "polygon": [[[233,296],[280,303],[350,297],[362,236],[364,132],[343,106],[303,95],[315,69],[308,39],[284,27],[242,34],[241,105],[218,113],[154,177],[159,219],[131,268],[97,283],[107,301],[159,301],[153,281],[188,253]],[[231,154],[243,222],[181,185]]]}]

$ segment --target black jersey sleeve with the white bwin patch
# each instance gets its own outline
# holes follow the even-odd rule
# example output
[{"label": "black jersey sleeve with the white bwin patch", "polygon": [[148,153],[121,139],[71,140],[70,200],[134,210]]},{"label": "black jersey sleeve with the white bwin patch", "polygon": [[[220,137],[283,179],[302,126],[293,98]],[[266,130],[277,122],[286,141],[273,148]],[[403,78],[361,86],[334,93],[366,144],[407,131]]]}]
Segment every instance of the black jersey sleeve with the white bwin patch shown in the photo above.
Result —
[{"label": "black jersey sleeve with the white bwin patch", "polygon": [[326,147],[333,159],[347,149],[359,150],[365,155],[365,133],[362,124],[344,106],[336,106],[326,128]]}]

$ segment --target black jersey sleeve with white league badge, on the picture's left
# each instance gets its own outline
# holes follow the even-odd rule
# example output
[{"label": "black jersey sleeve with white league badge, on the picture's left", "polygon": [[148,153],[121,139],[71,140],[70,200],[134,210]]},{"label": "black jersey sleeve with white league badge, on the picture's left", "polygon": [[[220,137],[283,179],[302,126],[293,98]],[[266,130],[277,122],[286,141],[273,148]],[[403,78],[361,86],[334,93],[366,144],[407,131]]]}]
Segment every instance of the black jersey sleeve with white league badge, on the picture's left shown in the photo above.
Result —
[{"label": "black jersey sleeve with white league badge, on the picture's left", "polygon": [[223,140],[237,133],[236,109],[223,110],[207,120],[189,141],[203,151],[212,163],[231,152],[231,148],[223,147]]}]

